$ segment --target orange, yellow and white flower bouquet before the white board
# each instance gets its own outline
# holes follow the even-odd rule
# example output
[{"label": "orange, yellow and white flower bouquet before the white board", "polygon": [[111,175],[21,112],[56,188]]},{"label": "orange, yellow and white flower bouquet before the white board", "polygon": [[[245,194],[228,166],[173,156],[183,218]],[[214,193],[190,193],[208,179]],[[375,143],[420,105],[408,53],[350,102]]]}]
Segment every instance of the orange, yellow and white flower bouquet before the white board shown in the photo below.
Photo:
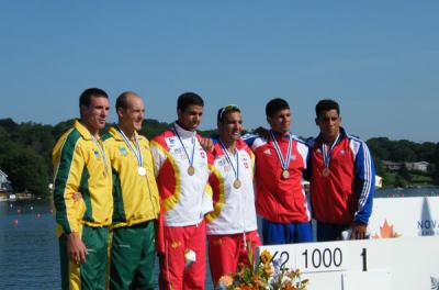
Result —
[{"label": "orange, yellow and white flower bouquet before the white board", "polygon": [[263,250],[258,264],[254,263],[249,247],[249,265],[239,264],[237,272],[221,277],[219,290],[304,290],[308,283],[302,280],[299,270],[281,267],[281,258],[272,259],[268,250]]}]

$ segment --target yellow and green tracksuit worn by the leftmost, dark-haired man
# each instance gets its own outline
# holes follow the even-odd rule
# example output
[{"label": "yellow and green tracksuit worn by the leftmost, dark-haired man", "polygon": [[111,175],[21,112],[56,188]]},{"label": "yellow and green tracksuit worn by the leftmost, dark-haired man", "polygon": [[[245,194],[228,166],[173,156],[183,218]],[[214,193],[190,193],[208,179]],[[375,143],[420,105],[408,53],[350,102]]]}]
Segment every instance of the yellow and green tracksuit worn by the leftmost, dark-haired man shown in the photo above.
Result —
[{"label": "yellow and green tracksuit worn by the leftmost, dark-haired man", "polygon": [[[108,155],[99,136],[97,142]],[[61,256],[63,289],[104,289],[108,226],[112,222],[111,166],[90,132],[79,122],[53,149],[54,205]],[[82,199],[75,201],[75,192]],[[88,249],[86,263],[67,257],[66,235],[77,233]],[[103,285],[102,283],[103,278]],[[103,287],[103,288],[102,288]]]}]

